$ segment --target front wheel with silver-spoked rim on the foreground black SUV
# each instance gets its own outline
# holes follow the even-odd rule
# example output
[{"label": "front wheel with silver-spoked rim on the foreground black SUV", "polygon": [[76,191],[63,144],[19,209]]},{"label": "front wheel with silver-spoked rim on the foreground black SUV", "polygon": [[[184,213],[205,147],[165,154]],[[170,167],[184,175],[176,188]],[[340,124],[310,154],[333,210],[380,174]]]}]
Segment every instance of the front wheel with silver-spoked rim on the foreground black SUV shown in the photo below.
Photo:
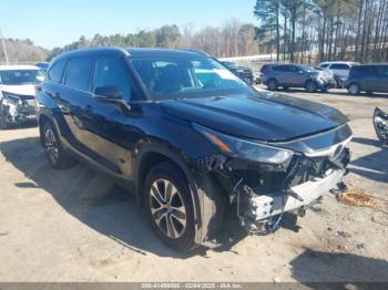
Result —
[{"label": "front wheel with silver-spoked rim on the foreground black SUV", "polygon": [[191,190],[180,167],[172,162],[155,165],[143,188],[146,215],[159,238],[180,251],[198,247]]}]

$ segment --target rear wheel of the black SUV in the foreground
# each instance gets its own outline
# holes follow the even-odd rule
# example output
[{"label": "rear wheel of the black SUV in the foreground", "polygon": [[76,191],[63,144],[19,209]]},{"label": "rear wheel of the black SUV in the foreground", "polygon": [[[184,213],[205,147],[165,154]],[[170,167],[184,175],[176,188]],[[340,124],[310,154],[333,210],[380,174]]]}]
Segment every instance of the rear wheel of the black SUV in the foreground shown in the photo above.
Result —
[{"label": "rear wheel of the black SUV in the foreground", "polygon": [[45,155],[52,168],[65,169],[76,164],[63,149],[57,130],[50,122],[43,125],[42,138]]}]

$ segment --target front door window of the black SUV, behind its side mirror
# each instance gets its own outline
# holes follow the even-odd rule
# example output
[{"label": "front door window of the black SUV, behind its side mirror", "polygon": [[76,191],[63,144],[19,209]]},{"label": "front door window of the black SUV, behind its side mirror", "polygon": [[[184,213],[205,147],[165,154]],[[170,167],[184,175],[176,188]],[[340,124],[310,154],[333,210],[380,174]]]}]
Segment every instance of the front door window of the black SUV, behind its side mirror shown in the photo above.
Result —
[{"label": "front door window of the black SUV, behind its side mirror", "polygon": [[93,80],[93,91],[96,87],[116,86],[124,100],[131,99],[131,82],[119,61],[113,58],[100,58],[98,60]]}]

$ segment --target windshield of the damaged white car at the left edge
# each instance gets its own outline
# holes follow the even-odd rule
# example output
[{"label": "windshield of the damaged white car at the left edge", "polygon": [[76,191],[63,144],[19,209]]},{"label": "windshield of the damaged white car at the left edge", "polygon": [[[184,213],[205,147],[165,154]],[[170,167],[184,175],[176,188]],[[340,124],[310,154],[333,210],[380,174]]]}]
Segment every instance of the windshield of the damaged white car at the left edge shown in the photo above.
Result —
[{"label": "windshield of the damaged white car at the left edge", "polygon": [[38,84],[43,80],[44,80],[43,74],[38,70],[0,71],[0,84],[6,84],[6,85]]}]

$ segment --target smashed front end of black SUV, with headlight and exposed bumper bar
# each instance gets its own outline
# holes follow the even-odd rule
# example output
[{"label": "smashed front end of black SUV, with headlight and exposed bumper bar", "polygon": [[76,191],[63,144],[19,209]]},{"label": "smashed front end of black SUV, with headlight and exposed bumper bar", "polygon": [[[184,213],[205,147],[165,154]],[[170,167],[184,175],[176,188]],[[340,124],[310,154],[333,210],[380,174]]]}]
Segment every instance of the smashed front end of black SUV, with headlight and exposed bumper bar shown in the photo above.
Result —
[{"label": "smashed front end of black SUV, with headlight and exposed bumper bar", "polygon": [[[282,144],[244,141],[195,125],[223,153],[197,159],[195,175],[212,174],[249,234],[274,231],[284,213],[304,216],[338,188],[350,160],[349,127]],[[335,136],[335,137],[334,137]],[[339,139],[340,136],[340,139]],[[320,142],[326,138],[331,144]],[[315,144],[315,145],[313,145]],[[316,147],[313,149],[312,147]]]}]

